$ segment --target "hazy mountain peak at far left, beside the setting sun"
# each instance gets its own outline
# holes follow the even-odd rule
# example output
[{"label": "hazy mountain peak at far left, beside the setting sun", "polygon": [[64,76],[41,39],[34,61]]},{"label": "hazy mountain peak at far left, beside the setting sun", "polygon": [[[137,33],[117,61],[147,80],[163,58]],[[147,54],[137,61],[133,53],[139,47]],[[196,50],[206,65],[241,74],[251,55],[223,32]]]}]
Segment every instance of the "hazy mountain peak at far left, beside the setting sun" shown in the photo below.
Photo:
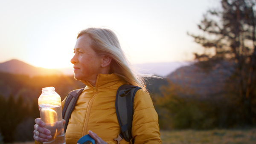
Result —
[{"label": "hazy mountain peak at far left, beside the setting sun", "polygon": [[35,67],[15,59],[0,63],[0,72],[29,75],[29,77],[38,75],[62,75],[62,72],[59,70]]}]

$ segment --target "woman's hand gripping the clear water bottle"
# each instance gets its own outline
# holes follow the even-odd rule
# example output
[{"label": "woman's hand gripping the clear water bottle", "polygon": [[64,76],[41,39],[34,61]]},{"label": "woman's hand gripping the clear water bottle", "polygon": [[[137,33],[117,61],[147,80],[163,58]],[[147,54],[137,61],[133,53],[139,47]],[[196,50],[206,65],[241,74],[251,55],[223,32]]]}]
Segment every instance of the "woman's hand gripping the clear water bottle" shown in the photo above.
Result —
[{"label": "woman's hand gripping the clear water bottle", "polygon": [[51,132],[44,128],[45,124],[41,118],[35,119],[35,130],[34,130],[34,139],[38,142],[47,142],[52,136]]}]

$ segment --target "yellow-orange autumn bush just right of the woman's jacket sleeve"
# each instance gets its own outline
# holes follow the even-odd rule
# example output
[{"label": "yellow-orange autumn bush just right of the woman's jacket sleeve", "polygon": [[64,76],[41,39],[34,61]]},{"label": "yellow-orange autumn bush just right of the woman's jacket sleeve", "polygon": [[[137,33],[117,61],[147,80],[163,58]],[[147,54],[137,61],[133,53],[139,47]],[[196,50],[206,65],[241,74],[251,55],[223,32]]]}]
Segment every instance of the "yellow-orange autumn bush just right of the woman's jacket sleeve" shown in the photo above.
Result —
[{"label": "yellow-orange autumn bush just right of the woman's jacket sleeve", "polygon": [[[170,82],[168,86],[163,86],[162,95],[154,102],[161,129],[202,129],[212,126],[207,120],[207,111],[201,109],[204,104],[197,101],[191,89]],[[171,124],[166,125],[166,119]]]}]

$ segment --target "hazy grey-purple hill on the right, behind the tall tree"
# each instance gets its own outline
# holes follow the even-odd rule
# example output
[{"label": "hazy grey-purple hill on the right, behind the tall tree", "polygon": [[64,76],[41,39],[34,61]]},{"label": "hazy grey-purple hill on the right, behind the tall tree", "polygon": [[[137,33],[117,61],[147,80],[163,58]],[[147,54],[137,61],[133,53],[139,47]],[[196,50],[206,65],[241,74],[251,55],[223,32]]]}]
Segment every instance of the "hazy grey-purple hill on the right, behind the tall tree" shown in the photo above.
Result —
[{"label": "hazy grey-purple hill on the right, behind the tall tree", "polygon": [[221,95],[225,88],[226,79],[234,71],[231,65],[229,62],[222,62],[212,67],[211,71],[206,72],[193,64],[177,69],[167,78],[180,86],[194,89],[202,98]]}]

